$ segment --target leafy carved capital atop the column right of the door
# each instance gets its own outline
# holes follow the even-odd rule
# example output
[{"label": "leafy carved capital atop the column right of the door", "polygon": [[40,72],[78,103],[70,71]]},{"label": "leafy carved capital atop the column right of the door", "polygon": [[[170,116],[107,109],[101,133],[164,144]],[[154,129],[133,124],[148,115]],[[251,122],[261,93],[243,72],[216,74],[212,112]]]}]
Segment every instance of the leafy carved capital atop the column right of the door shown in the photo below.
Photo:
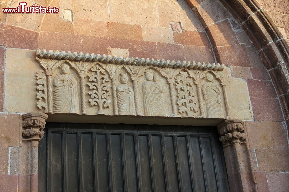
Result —
[{"label": "leafy carved capital atop the column right of the door", "polygon": [[223,146],[228,146],[233,143],[246,143],[246,135],[244,133],[244,122],[238,119],[227,119],[217,125],[218,133],[221,135],[219,140]]}]

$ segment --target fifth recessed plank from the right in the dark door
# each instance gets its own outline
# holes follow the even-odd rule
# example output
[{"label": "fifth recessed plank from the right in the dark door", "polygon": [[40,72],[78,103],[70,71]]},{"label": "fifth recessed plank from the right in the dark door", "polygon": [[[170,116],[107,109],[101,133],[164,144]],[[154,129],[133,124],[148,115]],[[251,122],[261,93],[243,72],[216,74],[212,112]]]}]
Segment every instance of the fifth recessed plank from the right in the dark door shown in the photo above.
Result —
[{"label": "fifth recessed plank from the right in the dark door", "polygon": [[162,146],[161,146],[161,136],[152,135],[152,152],[153,152],[153,164],[155,173],[155,190],[166,191],[165,173],[164,173],[164,162],[162,158]]}]

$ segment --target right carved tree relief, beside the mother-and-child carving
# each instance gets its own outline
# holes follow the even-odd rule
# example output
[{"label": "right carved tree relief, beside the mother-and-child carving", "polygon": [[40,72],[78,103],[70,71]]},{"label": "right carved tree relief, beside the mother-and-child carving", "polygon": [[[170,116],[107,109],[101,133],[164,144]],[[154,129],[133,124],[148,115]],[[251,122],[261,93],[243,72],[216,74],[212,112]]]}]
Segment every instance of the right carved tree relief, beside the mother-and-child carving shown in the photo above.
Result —
[{"label": "right carved tree relief, beside the mother-and-child carving", "polygon": [[193,80],[188,77],[186,71],[180,71],[175,77],[175,85],[178,90],[177,105],[179,112],[187,116],[194,116],[198,112],[197,98],[193,88]]}]

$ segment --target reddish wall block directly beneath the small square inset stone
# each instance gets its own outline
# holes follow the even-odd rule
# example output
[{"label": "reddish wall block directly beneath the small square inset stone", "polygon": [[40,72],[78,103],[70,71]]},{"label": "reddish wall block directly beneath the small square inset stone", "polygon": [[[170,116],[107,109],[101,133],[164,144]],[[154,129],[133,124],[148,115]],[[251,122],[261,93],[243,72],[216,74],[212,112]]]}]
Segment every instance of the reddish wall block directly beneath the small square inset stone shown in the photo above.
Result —
[{"label": "reddish wall block directly beneath the small square inset stone", "polygon": [[199,31],[183,31],[183,33],[174,33],[174,42],[182,45],[211,47],[206,33]]}]

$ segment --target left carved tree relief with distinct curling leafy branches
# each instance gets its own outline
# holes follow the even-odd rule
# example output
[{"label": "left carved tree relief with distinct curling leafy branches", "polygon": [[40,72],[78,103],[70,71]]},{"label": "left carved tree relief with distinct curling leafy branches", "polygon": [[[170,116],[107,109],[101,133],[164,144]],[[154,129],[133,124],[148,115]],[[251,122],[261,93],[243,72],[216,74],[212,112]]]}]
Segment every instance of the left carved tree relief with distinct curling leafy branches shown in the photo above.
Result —
[{"label": "left carved tree relief with distinct curling leafy branches", "polygon": [[99,65],[94,65],[90,71],[92,71],[92,73],[88,74],[89,82],[87,84],[91,90],[88,92],[88,94],[91,96],[91,99],[88,101],[90,102],[91,106],[99,107],[97,114],[104,114],[102,110],[103,107],[110,107],[111,102],[111,99],[108,99],[108,96],[111,94],[111,85],[107,83],[109,82],[108,75]]}]

